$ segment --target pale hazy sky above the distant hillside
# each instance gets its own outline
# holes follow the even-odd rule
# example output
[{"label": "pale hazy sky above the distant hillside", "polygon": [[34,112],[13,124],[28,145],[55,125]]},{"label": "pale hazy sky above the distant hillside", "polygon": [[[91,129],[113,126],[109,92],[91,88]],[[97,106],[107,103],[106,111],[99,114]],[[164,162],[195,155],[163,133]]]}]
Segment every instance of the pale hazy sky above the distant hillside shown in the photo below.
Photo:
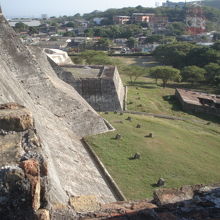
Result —
[{"label": "pale hazy sky above the distant hillside", "polygon": [[[6,17],[40,17],[74,15],[94,10],[122,8],[128,6],[154,7],[155,3],[162,4],[166,0],[0,0]],[[178,0],[171,0],[177,2]],[[179,0],[184,1],[184,0]],[[187,0],[188,1],[188,0]]]}]

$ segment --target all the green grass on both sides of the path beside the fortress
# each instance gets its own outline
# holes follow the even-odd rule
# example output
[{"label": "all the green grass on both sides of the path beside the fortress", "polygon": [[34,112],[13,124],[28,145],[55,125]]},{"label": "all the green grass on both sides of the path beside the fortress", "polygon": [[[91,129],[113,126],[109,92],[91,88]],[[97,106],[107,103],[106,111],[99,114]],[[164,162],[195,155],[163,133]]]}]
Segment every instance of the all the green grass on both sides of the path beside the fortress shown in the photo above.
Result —
[{"label": "all the green grass on both sides of the path beside the fortress", "polygon": [[[119,57],[125,65],[152,66],[149,58]],[[146,59],[148,59],[146,61]],[[120,67],[119,67],[120,70]],[[175,87],[191,88],[190,84],[169,83],[163,89],[151,78],[140,77],[134,85],[121,75],[128,85],[128,110],[188,118],[173,121],[140,115],[102,114],[116,131],[87,137],[114,180],[128,199],[151,197],[153,184],[160,177],[166,187],[220,182],[220,119],[209,115],[193,115],[181,110],[175,99]],[[196,90],[214,92],[207,85]],[[128,116],[132,121],[126,120]],[[141,128],[136,128],[137,124]],[[115,140],[115,135],[122,135]],[[153,133],[153,138],[146,138]],[[129,160],[135,153],[140,160]]]}]

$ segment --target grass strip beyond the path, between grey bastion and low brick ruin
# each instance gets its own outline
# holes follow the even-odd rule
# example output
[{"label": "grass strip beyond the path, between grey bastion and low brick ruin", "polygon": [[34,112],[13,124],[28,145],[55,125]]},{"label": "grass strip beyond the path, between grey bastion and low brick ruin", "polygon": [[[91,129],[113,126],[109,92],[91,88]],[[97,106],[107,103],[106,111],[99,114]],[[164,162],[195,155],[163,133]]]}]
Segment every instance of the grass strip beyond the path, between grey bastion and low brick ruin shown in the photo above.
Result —
[{"label": "grass strip beyond the path, between grey bastion and low brick ruin", "polygon": [[[128,77],[122,76],[122,78],[124,83],[129,84]],[[178,84],[177,86],[181,88],[183,84]],[[187,86],[190,87],[191,85]],[[207,91],[208,89],[209,91],[211,90],[210,88],[201,88],[200,86],[196,90]],[[128,86],[127,109],[195,120],[211,119],[220,122],[216,117],[204,114],[189,114],[182,111],[181,105],[175,97],[174,83],[168,84],[167,88],[162,88],[155,84],[154,79],[147,77],[140,77],[134,85]]]}]

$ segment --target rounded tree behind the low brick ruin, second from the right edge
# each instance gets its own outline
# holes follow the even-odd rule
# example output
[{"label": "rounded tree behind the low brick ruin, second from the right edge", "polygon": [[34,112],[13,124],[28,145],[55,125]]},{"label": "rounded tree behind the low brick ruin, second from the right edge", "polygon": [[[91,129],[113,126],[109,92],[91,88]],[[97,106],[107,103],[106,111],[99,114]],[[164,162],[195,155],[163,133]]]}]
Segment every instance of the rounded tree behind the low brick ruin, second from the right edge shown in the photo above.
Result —
[{"label": "rounded tree behind the low brick ruin, second from the right edge", "polygon": [[198,66],[186,66],[181,71],[183,81],[191,82],[193,84],[195,82],[204,81],[205,74],[206,70]]}]

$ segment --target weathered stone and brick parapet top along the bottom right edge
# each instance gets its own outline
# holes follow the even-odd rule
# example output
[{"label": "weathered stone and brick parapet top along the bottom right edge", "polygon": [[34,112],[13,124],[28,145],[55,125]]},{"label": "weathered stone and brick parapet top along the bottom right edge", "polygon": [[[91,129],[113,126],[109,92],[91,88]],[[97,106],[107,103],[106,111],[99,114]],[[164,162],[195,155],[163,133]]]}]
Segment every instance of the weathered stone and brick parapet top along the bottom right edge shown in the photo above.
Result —
[{"label": "weathered stone and brick parapet top along the bottom right edge", "polygon": [[[154,201],[127,201],[102,205],[85,219],[124,220],[217,220],[220,219],[220,184],[163,189],[170,202],[156,206]],[[162,194],[162,190],[160,190]],[[193,193],[193,196],[190,196]],[[183,196],[183,194],[185,196]],[[175,201],[173,200],[175,195]],[[179,198],[177,198],[179,197]],[[167,197],[168,198],[168,197]],[[191,198],[191,199],[190,199]]]}]

